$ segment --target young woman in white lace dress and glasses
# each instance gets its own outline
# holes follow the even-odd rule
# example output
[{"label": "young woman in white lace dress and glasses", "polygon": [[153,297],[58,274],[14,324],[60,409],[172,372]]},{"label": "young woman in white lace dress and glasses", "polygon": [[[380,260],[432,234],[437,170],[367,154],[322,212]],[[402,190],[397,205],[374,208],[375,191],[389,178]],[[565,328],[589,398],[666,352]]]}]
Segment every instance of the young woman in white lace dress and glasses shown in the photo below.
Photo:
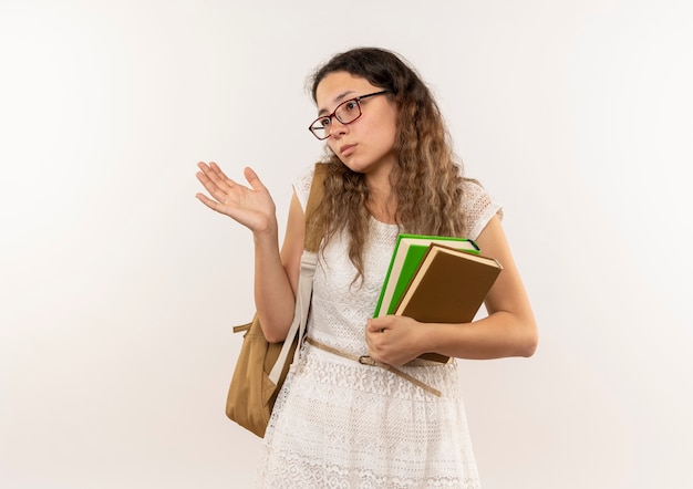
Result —
[{"label": "young woman in white lace dress and glasses", "polygon": [[[530,356],[535,319],[500,226],[500,207],[462,175],[431,92],[396,54],[354,49],[312,76],[329,173],[318,223],[324,231],[313,281],[308,340],[279,394],[265,436],[258,486],[267,488],[478,488],[455,361]],[[209,208],[252,231],[256,306],[269,341],[286,337],[303,249],[312,170],[294,183],[279,248],[272,199],[258,176],[248,186],[214,163],[198,178]],[[372,319],[400,232],[476,241],[504,267],[469,324]],[[399,367],[418,383],[353,357]],[[412,361],[412,362],[410,362]],[[439,391],[435,395],[421,386]]]}]

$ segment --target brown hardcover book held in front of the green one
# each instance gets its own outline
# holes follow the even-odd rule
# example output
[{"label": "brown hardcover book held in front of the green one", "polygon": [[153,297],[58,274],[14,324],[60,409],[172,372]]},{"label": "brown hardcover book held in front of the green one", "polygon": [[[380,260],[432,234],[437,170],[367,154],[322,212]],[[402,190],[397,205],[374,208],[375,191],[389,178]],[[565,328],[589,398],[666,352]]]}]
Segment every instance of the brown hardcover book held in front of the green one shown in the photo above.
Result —
[{"label": "brown hardcover book held in front of the green one", "polygon": [[[424,323],[468,323],[503,267],[488,257],[432,243],[402,295],[395,314]],[[436,353],[421,356],[447,362]]]}]

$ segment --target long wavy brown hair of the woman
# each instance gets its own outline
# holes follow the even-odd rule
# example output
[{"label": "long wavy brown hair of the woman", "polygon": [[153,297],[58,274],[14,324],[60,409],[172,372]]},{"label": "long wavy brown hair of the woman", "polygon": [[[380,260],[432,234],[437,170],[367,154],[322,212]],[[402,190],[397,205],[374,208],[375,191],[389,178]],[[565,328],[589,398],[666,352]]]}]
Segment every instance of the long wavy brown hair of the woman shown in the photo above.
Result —
[{"label": "long wavy brown hair of the woman", "polygon": [[[467,179],[453,153],[441,111],[422,79],[393,52],[353,49],[333,56],[309,79],[313,101],[320,82],[334,72],[363,77],[386,90],[397,106],[397,164],[390,185],[401,232],[465,237],[461,202]],[[323,162],[328,165],[324,199],[313,225],[322,231],[325,243],[341,231],[349,233],[349,258],[358,270],[356,280],[363,275],[372,196],[364,175],[352,171],[329,147]]]}]

